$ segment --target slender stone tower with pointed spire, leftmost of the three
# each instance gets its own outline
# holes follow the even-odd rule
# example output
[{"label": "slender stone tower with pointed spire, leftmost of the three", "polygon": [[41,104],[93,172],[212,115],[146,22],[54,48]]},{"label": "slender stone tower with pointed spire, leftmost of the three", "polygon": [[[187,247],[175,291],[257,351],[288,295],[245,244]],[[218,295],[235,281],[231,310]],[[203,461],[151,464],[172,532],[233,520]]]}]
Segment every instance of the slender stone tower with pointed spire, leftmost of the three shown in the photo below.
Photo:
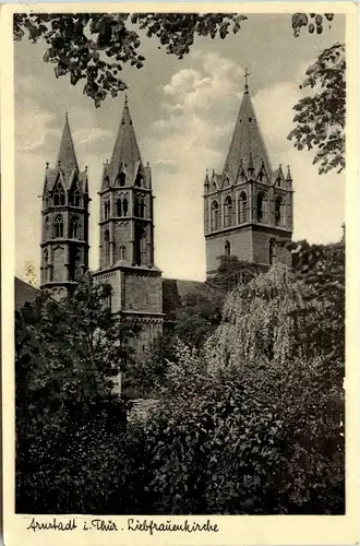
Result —
[{"label": "slender stone tower with pointed spire, leftmost of the three", "polygon": [[68,115],[55,168],[46,165],[41,206],[40,287],[60,299],[88,268],[87,169],[77,166]]}]

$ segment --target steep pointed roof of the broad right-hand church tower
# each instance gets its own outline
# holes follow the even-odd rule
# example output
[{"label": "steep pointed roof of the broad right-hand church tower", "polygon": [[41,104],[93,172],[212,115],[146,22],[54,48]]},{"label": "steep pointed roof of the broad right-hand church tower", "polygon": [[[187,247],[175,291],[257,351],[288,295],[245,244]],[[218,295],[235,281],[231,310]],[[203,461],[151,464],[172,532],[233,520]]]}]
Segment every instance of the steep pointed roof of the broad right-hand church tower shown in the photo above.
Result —
[{"label": "steep pointed roof of the broad right-hand church tower", "polygon": [[259,171],[262,162],[264,162],[267,176],[271,179],[273,169],[257,123],[248,85],[245,85],[229,152],[224,164],[223,177],[229,174],[235,180],[239,171],[240,159],[242,159],[244,169],[251,165],[255,169],[255,173]]}]

